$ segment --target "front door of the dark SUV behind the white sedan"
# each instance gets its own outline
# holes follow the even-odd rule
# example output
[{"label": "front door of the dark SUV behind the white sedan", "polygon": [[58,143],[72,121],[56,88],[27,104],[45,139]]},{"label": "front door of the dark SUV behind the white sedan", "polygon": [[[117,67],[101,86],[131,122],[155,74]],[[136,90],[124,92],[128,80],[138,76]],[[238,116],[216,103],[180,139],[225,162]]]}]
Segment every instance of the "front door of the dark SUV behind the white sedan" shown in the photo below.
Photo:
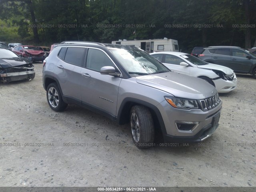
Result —
[{"label": "front door of the dark SUV behind the white sedan", "polygon": [[246,58],[246,56],[250,55],[247,54],[244,50],[232,48],[232,67],[230,68],[232,68],[236,72],[249,73],[252,67],[252,60]]}]

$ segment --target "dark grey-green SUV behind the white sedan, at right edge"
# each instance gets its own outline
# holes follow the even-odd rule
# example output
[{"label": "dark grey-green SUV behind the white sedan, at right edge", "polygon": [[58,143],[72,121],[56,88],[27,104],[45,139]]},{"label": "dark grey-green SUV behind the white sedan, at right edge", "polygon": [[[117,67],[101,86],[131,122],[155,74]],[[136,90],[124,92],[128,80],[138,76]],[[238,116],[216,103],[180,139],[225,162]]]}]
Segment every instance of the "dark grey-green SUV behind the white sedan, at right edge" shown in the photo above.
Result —
[{"label": "dark grey-green SUV behind the white sedan, at right edge", "polygon": [[226,66],[236,73],[252,74],[256,78],[256,55],[240,47],[211,46],[204,48],[198,58]]}]

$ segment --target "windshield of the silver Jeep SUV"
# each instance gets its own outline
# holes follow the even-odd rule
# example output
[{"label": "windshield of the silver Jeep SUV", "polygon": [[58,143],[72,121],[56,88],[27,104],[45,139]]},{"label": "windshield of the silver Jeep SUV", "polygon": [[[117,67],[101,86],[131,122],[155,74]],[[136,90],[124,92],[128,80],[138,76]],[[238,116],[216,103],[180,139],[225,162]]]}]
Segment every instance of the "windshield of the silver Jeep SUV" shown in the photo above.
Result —
[{"label": "windshield of the silver Jeep SUV", "polygon": [[150,75],[170,71],[146,52],[132,46],[111,48],[110,52],[129,74]]}]

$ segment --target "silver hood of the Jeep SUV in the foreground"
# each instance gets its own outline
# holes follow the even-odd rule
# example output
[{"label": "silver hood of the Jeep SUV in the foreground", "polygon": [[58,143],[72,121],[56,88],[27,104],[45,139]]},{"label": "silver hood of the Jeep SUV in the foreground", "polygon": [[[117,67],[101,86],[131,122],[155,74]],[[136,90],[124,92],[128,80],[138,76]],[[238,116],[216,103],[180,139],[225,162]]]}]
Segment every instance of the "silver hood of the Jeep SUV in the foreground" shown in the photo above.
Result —
[{"label": "silver hood of the Jeep SUV in the foreground", "polygon": [[181,98],[203,99],[217,92],[215,87],[205,80],[176,72],[138,76],[136,82]]}]

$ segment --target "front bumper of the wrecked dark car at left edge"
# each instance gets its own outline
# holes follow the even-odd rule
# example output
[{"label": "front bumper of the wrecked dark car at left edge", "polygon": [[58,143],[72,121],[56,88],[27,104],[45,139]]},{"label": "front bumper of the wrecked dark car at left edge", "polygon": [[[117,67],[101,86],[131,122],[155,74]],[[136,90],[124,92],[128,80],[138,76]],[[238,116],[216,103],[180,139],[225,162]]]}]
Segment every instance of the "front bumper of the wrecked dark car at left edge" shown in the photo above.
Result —
[{"label": "front bumper of the wrecked dark car at left edge", "polygon": [[35,77],[35,71],[22,71],[22,72],[13,72],[13,73],[4,73],[0,74],[1,82],[11,82],[18,80],[32,80]]}]

